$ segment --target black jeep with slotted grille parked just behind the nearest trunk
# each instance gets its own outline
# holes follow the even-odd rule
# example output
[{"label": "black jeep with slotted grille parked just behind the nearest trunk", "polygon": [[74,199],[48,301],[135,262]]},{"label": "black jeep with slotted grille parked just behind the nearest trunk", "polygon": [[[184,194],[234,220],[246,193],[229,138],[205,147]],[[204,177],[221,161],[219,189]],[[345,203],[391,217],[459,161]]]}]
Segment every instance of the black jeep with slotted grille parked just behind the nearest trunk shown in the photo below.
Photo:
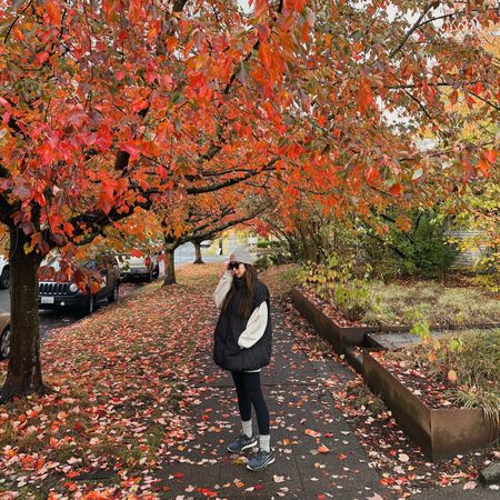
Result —
[{"label": "black jeep with slotted grille parked just behind the nearest trunk", "polygon": [[[59,258],[46,263],[59,271]],[[117,259],[111,254],[99,254],[82,263],[86,271],[86,290],[80,290],[71,281],[40,280],[38,287],[38,307],[40,309],[78,309],[90,314],[102,300],[114,302],[120,290],[120,271]],[[92,284],[93,283],[93,284]],[[97,291],[96,291],[97,290]]]}]

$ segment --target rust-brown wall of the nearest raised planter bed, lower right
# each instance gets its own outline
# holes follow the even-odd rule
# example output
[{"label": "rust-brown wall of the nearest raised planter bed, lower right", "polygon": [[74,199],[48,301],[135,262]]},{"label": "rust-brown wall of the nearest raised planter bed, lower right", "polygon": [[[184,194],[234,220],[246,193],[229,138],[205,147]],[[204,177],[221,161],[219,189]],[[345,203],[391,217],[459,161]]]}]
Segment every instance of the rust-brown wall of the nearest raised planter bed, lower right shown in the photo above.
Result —
[{"label": "rust-brown wall of the nearest raised planter bed, lower right", "polygon": [[433,409],[424,404],[369,352],[363,352],[364,380],[380,396],[398,423],[432,462],[486,447],[499,429],[481,409]]}]

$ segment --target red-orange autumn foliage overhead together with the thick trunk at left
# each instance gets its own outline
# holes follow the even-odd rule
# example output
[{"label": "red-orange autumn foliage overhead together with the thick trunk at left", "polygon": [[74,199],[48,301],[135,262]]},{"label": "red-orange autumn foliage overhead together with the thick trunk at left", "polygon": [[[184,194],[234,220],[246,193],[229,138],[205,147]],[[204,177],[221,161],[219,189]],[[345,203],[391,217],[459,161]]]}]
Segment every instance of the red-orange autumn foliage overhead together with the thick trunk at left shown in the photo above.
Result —
[{"label": "red-orange autumn foliage overhead together with the thick trunk at left", "polygon": [[21,320],[42,254],[137,206],[257,182],[283,217],[299,190],[363,213],[488,177],[498,143],[466,143],[449,103],[497,116],[479,33],[498,22],[489,0],[3,0],[0,220],[12,289],[32,284],[12,297],[3,393],[42,387]]}]

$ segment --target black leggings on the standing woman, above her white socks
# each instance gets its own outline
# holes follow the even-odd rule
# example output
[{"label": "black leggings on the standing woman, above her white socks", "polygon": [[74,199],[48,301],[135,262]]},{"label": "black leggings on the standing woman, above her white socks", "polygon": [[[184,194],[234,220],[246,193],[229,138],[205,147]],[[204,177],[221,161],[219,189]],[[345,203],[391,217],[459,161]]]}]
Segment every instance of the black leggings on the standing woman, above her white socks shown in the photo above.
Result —
[{"label": "black leggings on the standing woman, above her white socks", "polygon": [[263,399],[260,386],[260,371],[231,371],[232,380],[238,394],[238,407],[241,420],[248,421],[252,418],[252,404],[257,414],[259,433],[269,434],[269,410]]}]

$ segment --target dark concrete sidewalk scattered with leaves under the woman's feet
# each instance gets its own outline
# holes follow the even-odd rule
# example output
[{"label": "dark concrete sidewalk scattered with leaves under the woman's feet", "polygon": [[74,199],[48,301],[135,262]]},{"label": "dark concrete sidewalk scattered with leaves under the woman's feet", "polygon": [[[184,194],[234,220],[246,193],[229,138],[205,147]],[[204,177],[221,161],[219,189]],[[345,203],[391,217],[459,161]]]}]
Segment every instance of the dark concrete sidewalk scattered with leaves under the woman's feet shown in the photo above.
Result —
[{"label": "dark concrete sidewalk scattered with leaves under the woman's feet", "polygon": [[[380,484],[380,476],[342,413],[324,380],[346,383],[353,373],[334,360],[310,361],[297,349],[280,312],[272,312],[273,360],[262,371],[271,417],[271,446],[277,460],[262,472],[246,468],[247,456],[226,447],[241,431],[230,377],[213,364],[211,342],[198,353],[190,384],[200,397],[188,409],[188,440],[169,450],[160,477],[164,499],[339,499],[380,500],[398,496]],[[253,418],[254,432],[258,433]],[[320,446],[328,452],[319,452]],[[416,499],[493,499],[494,491],[437,489]]]}]

